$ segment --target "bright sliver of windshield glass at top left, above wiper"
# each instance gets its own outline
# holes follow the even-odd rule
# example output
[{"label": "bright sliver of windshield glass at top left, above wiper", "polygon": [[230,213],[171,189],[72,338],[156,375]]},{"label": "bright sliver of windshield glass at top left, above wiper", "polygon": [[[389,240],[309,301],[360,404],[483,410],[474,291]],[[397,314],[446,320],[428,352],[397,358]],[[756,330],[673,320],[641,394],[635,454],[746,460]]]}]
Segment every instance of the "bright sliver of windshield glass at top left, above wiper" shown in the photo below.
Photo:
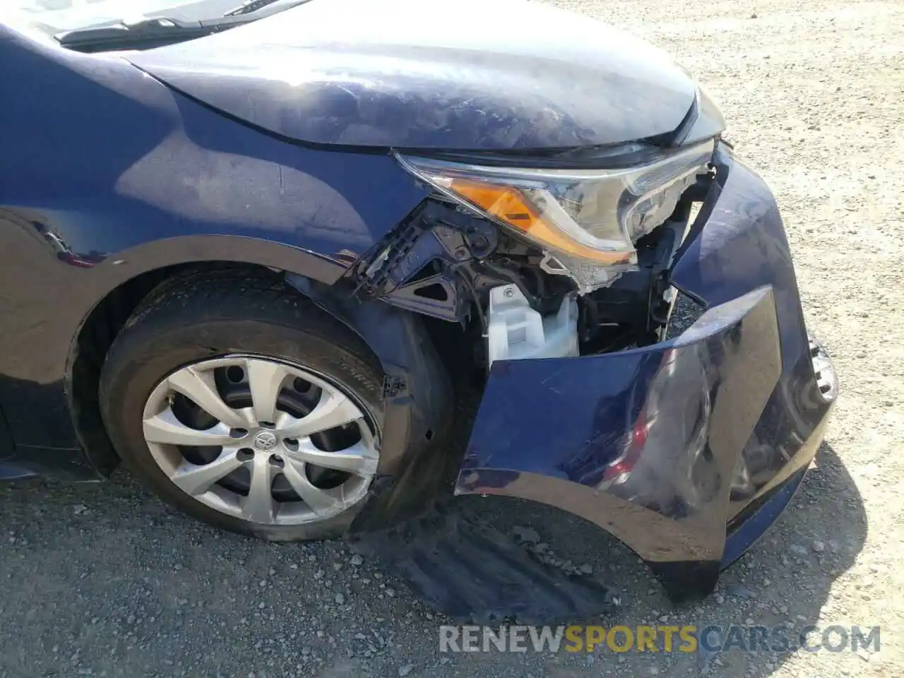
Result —
[{"label": "bright sliver of windshield glass at top left, above wiper", "polygon": [[0,0],[0,22],[45,35],[116,24],[122,19],[166,16],[198,21],[220,16],[242,0]]}]

